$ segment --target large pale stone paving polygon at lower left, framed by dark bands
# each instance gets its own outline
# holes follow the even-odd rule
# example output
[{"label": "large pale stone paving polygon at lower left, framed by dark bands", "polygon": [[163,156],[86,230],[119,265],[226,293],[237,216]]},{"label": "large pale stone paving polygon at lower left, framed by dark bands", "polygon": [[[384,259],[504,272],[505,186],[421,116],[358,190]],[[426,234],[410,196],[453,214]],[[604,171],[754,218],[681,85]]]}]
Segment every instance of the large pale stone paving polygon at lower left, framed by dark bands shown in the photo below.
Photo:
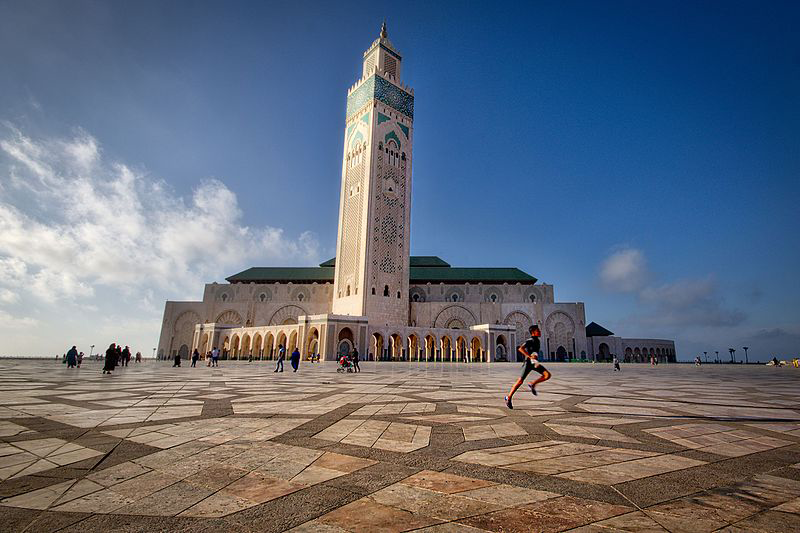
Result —
[{"label": "large pale stone paving polygon at lower left, framed by dark bands", "polygon": [[[186,453],[189,455],[186,455]],[[2,505],[68,512],[218,517],[355,472],[375,461],[255,441],[159,452],[15,496]],[[159,454],[164,454],[163,456]],[[141,464],[145,463],[145,464]]]}]

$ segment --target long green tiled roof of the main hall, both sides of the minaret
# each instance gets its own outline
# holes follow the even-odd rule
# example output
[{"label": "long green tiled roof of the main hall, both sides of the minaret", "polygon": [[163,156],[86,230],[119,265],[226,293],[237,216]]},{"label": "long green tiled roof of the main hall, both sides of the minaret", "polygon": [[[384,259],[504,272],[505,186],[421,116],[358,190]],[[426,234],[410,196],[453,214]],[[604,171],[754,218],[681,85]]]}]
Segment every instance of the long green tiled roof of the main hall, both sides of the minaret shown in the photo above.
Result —
[{"label": "long green tiled roof of the main hall, both sides of the minaret", "polygon": [[[523,283],[536,278],[518,268],[451,267],[436,256],[411,256],[411,283]],[[336,258],[318,267],[253,267],[226,278],[230,283],[328,283],[333,282]]]}]

